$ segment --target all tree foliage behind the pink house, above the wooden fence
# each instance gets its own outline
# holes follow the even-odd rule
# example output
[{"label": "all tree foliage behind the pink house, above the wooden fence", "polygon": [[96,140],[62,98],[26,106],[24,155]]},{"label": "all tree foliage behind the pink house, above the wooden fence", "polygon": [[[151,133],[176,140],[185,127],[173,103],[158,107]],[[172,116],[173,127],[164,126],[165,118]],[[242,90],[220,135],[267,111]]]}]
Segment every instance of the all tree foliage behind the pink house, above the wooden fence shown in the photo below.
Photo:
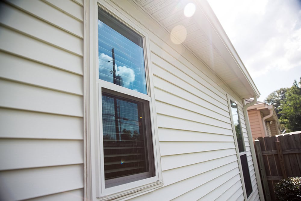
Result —
[{"label": "all tree foliage behind the pink house, above the wooden fence", "polygon": [[292,87],[272,92],[265,102],[274,105],[281,127],[287,132],[301,130],[301,77]]}]

